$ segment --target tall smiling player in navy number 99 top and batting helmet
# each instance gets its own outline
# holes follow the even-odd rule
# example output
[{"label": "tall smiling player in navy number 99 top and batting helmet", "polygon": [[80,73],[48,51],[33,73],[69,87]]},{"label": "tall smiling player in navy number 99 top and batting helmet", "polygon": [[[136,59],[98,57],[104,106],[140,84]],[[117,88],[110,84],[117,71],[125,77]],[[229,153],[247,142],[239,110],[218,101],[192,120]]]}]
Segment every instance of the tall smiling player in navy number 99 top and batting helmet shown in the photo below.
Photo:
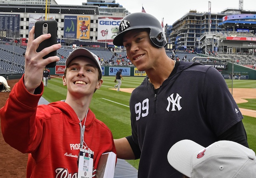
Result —
[{"label": "tall smiling player in navy number 99 top and batting helmet", "polygon": [[114,140],[118,158],[140,158],[138,178],[181,178],[167,153],[182,139],[202,146],[233,140],[248,147],[242,114],[214,67],[170,59],[163,28],[148,13],[127,15],[119,32],[114,45],[124,45],[147,74],[130,97],[132,136]]}]

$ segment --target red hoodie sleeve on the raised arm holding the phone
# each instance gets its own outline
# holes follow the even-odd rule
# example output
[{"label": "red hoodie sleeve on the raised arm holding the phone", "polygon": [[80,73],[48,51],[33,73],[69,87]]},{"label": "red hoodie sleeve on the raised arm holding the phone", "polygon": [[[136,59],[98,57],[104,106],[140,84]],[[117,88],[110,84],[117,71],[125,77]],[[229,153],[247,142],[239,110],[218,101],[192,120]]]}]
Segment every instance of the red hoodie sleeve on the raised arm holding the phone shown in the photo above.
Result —
[{"label": "red hoodie sleeve on the raised arm holding the phone", "polygon": [[0,109],[1,128],[4,140],[22,153],[35,150],[42,138],[42,125],[36,120],[36,110],[43,93],[43,84],[38,87],[40,94],[30,94],[23,83],[24,75],[10,92],[9,98]]}]

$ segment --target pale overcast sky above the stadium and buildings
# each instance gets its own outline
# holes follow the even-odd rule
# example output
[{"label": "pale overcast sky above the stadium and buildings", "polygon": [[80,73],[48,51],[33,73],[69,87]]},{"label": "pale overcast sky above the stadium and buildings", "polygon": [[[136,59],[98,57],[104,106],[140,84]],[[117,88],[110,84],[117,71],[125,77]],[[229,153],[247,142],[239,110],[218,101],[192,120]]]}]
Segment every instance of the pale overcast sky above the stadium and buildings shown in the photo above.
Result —
[{"label": "pale overcast sky above the stadium and buildings", "polygon": [[[82,5],[87,0],[55,0],[58,4]],[[227,8],[239,9],[239,0],[210,0],[211,12],[218,13]],[[243,0],[243,9],[256,11],[255,0]],[[160,22],[172,25],[190,10],[208,12],[209,0],[116,0],[129,12],[141,12],[142,5],[146,13],[152,14]]]}]

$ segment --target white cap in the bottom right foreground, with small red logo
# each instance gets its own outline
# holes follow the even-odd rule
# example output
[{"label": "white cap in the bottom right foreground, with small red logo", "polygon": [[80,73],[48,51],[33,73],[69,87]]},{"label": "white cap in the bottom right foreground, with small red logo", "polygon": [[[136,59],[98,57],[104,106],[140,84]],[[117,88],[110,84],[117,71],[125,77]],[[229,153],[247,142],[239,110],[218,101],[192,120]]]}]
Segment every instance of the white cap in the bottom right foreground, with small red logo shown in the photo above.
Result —
[{"label": "white cap in the bottom right foreground, with small red logo", "polygon": [[256,177],[255,152],[233,141],[221,140],[205,148],[192,140],[181,140],[170,148],[167,159],[190,178]]}]

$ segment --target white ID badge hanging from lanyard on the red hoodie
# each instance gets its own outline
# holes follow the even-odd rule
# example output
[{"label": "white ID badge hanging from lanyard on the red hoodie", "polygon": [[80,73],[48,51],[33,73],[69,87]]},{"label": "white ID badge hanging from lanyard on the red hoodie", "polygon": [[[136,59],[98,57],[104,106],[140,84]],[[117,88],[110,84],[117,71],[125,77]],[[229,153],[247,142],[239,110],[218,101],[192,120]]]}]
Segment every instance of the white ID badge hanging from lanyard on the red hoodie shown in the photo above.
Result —
[{"label": "white ID badge hanging from lanyard on the red hoodie", "polygon": [[93,151],[80,148],[78,178],[92,178],[93,155]]}]

